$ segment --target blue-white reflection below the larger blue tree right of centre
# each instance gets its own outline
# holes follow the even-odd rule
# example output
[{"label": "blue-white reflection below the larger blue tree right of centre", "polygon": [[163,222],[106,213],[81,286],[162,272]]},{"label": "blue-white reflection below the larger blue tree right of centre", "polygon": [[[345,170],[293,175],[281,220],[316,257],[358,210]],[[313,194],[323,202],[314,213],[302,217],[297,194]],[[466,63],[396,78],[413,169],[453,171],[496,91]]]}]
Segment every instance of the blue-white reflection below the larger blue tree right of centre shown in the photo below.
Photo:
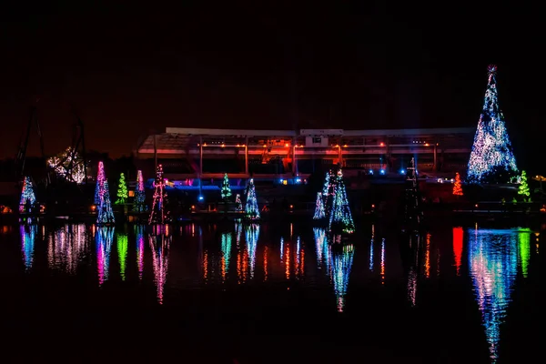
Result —
[{"label": "blue-white reflection below the larger blue tree right of centre", "polygon": [[334,290],[338,302],[338,312],[343,312],[355,248],[352,245],[336,246],[332,251]]}]

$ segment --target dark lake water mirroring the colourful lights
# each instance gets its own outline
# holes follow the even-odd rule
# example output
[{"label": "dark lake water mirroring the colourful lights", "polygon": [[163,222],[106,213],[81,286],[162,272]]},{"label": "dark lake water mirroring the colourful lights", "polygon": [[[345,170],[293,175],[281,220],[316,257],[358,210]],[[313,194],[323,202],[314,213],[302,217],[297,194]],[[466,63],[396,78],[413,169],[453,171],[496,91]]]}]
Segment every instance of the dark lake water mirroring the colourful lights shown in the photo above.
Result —
[{"label": "dark lake water mirroring the colourful lights", "polygon": [[4,226],[3,352],[71,363],[532,361],[540,233]]}]

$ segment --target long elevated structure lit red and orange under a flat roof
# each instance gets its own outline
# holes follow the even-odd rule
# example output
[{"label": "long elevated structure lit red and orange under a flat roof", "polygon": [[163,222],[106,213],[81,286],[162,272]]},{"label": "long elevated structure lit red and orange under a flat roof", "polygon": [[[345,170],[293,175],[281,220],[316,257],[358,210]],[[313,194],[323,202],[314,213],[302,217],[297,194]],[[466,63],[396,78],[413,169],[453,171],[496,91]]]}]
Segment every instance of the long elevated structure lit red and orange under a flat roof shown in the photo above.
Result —
[{"label": "long elevated structure lit red and orange under a flat roof", "polygon": [[[167,127],[136,150],[140,163],[164,167],[170,181],[198,178],[306,178],[341,165],[344,170],[399,173],[416,158],[420,171],[463,171],[473,127],[343,130],[247,130]],[[149,161],[154,161],[151,165]],[[285,182],[286,184],[286,182]]]}]

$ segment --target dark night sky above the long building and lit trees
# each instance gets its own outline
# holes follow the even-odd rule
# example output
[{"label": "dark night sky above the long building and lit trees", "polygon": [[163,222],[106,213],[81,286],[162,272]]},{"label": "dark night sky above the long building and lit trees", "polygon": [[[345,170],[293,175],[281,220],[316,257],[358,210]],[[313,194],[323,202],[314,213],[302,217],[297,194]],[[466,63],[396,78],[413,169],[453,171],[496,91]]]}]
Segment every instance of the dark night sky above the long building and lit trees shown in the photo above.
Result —
[{"label": "dark night sky above the long building and lit trees", "polygon": [[36,97],[47,154],[71,143],[71,105],[88,149],[113,157],[165,126],[475,126],[490,63],[516,155],[546,128],[539,9],[180,3],[6,9],[0,157],[15,155]]}]

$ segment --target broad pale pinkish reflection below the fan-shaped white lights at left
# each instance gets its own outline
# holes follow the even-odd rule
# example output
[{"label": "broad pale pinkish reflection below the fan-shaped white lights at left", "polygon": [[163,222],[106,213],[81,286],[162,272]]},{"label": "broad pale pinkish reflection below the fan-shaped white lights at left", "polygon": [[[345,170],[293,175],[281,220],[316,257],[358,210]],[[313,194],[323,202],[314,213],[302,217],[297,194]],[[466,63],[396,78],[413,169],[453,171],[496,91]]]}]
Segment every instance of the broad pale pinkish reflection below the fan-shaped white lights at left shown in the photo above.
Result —
[{"label": "broad pale pinkish reflection below the fan-shaped white lights at left", "polygon": [[86,253],[86,226],[66,225],[49,234],[47,240],[49,268],[75,274],[78,262]]}]

